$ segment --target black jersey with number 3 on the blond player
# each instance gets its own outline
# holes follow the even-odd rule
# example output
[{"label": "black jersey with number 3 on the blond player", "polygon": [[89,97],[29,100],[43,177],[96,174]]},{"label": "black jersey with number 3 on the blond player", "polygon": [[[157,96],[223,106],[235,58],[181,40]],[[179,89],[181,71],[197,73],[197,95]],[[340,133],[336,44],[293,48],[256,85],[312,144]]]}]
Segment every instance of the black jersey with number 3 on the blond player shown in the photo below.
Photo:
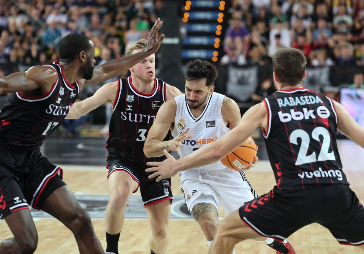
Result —
[{"label": "black jersey with number 3 on the blond player", "polygon": [[[109,155],[122,156],[138,163],[164,160],[165,156],[147,158],[143,147],[158,109],[165,101],[166,83],[161,79],[154,78],[154,89],[150,94],[135,89],[131,77],[120,79],[106,143]],[[170,132],[167,139],[170,139]]]}]

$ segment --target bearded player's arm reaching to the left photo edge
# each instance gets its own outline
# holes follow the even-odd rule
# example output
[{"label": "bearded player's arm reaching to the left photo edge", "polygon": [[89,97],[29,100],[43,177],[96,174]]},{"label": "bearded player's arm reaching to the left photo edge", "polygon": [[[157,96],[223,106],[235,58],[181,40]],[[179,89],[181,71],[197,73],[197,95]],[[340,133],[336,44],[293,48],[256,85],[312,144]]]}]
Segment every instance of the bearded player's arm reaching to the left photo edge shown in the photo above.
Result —
[{"label": "bearded player's arm reaching to the left photo edge", "polygon": [[46,94],[57,81],[58,73],[46,66],[36,65],[25,72],[17,72],[0,78],[0,94],[31,91],[41,88]]}]

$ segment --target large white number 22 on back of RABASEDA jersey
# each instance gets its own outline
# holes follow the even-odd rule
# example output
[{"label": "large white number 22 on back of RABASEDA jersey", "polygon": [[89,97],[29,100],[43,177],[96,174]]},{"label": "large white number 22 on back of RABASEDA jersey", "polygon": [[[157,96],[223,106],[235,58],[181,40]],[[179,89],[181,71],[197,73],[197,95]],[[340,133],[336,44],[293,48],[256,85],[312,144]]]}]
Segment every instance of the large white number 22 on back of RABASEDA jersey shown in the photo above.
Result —
[{"label": "large white number 22 on back of RABASEDA jersey", "polygon": [[289,135],[289,142],[298,145],[297,139],[301,139],[301,147],[298,151],[296,165],[302,165],[306,163],[312,163],[316,161],[325,160],[335,160],[335,154],[333,151],[329,152],[329,147],[331,144],[331,138],[329,131],[324,127],[316,127],[312,131],[312,138],[320,142],[320,135],[323,136],[324,140],[322,142],[321,151],[316,160],[316,152],[312,152],[310,155],[308,153],[308,147],[310,144],[310,136],[304,130],[294,130],[291,135]]}]

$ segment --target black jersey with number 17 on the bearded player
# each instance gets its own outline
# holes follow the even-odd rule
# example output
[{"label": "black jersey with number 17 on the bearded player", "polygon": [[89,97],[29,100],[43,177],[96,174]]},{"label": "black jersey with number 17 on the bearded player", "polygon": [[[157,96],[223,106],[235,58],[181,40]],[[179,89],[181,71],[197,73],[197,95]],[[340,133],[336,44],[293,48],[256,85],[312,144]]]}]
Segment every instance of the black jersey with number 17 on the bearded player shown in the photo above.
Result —
[{"label": "black jersey with number 17 on the bearded player", "polygon": [[32,150],[39,148],[66,117],[80,91],[79,81],[72,85],[64,77],[58,61],[49,65],[58,72],[51,90],[39,97],[12,93],[0,112],[0,144]]}]

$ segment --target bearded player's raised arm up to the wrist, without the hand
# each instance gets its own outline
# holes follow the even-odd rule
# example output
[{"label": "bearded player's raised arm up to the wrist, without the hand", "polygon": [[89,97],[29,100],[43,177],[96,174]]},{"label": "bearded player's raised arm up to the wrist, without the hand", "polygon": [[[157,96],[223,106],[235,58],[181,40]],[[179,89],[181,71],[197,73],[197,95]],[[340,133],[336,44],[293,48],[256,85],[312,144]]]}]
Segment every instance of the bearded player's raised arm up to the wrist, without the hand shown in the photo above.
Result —
[{"label": "bearded player's raised arm up to the wrist, without the hand", "polygon": [[111,78],[118,77],[125,73],[132,66],[138,64],[138,62],[142,61],[146,57],[149,57],[152,54],[151,52],[151,49],[145,49],[136,54],[122,57],[97,66],[95,67],[95,69],[97,69],[94,71],[92,79],[86,81],[85,85],[96,85],[99,83],[103,83]]}]

